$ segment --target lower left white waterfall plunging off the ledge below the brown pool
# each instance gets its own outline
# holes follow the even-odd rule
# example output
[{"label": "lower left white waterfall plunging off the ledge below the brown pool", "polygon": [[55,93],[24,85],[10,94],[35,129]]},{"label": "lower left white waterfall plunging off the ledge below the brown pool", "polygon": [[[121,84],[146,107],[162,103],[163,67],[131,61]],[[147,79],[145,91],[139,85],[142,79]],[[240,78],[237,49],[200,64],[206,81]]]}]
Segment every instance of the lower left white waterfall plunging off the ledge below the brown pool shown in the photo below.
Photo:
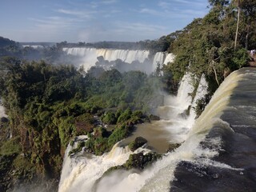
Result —
[{"label": "lower left white waterfall plunging off the ledge below the brown pool", "polygon": [[70,145],[66,148],[61,181],[58,187],[59,192],[92,191],[95,182],[110,167],[121,166],[128,160],[130,154],[149,151],[139,148],[131,152],[128,146],[121,147],[116,143],[109,153],[102,156],[95,156],[86,152],[68,156],[71,149]]}]

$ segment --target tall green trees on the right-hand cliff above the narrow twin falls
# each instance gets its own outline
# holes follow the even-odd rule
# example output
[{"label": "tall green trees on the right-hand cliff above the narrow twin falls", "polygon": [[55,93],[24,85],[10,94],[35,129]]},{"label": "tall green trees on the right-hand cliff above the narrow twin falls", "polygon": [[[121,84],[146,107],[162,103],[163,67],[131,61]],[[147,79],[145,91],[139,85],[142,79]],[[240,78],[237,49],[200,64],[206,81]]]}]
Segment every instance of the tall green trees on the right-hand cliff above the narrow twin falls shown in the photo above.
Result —
[{"label": "tall green trees on the right-hand cliff above the narrow twin falls", "polygon": [[[186,71],[200,78],[206,74],[213,94],[230,72],[246,66],[247,50],[255,49],[256,2],[240,1],[238,42],[234,47],[238,21],[236,1],[210,0],[210,12],[196,18],[183,30],[176,31],[176,40],[169,51],[176,55],[174,63],[165,66],[172,84],[178,83]],[[168,73],[167,73],[168,74]],[[171,86],[170,86],[171,87]]]}]

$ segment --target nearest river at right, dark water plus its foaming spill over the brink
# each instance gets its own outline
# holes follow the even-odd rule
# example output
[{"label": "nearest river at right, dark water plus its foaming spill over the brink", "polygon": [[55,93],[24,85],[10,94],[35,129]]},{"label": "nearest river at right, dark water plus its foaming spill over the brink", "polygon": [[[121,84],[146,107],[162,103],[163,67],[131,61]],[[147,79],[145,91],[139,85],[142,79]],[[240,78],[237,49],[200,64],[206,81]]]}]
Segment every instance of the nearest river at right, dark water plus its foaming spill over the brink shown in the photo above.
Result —
[{"label": "nearest river at right, dark water plus its foaming spill over the brink", "polygon": [[255,69],[230,74],[181,146],[140,173],[113,172],[95,191],[254,191],[255,79]]}]

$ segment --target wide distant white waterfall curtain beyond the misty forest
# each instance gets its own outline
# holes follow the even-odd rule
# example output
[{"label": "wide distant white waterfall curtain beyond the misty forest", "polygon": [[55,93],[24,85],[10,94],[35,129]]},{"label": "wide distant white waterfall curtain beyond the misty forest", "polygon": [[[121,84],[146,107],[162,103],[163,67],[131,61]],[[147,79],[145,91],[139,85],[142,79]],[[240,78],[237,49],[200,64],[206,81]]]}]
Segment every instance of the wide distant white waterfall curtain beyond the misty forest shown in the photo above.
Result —
[{"label": "wide distant white waterfall curtain beyond the misty forest", "polygon": [[111,49],[95,49],[95,48],[63,48],[67,54],[82,57],[82,65],[84,70],[89,70],[98,61],[98,57],[102,56],[106,61],[114,62],[120,59],[122,62],[132,64],[133,62],[141,63],[142,69],[147,73],[154,72],[158,63],[167,64],[173,62],[174,55],[165,52],[158,52],[153,58],[150,58],[149,50],[111,50]]}]

